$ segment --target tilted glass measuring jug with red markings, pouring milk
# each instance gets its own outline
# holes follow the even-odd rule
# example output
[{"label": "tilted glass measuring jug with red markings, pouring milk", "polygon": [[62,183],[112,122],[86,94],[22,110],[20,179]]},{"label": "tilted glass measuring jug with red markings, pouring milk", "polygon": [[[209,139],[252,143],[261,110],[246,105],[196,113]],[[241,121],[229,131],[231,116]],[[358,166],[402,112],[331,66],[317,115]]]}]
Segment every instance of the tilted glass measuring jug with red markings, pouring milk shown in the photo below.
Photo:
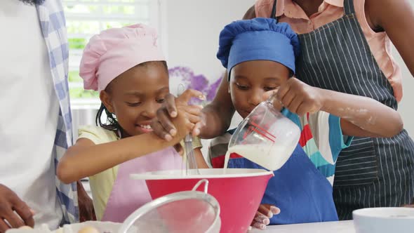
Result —
[{"label": "tilted glass measuring jug with red markings, pouring milk", "polygon": [[271,100],[261,102],[241,121],[232,135],[226,154],[237,153],[269,171],[288,161],[300,138],[299,127],[276,110]]}]

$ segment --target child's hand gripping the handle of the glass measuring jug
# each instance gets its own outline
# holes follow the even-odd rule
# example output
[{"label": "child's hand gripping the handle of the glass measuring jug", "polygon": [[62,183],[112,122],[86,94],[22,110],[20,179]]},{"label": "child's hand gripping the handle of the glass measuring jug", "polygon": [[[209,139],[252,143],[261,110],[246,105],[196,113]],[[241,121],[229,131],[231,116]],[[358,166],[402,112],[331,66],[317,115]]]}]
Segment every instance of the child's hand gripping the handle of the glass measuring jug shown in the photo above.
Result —
[{"label": "child's hand gripping the handle of the glass measuring jug", "polygon": [[[309,86],[299,79],[291,78],[281,85],[276,93],[274,105],[283,105],[289,111],[300,116],[317,112],[323,107],[323,95],[319,88]],[[279,101],[277,101],[279,100]],[[276,109],[278,108],[275,106]],[[280,108],[280,107],[279,107]]]}]

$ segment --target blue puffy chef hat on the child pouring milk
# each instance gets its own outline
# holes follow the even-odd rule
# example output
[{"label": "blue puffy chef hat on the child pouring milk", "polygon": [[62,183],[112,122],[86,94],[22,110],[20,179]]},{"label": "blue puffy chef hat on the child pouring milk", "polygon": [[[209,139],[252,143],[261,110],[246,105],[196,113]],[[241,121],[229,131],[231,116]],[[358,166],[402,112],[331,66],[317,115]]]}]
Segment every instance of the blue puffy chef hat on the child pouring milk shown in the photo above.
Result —
[{"label": "blue puffy chef hat on the child pouring milk", "polygon": [[217,58],[227,68],[249,60],[272,60],[295,74],[295,58],[300,52],[298,35],[286,22],[271,18],[238,20],[220,32]]}]

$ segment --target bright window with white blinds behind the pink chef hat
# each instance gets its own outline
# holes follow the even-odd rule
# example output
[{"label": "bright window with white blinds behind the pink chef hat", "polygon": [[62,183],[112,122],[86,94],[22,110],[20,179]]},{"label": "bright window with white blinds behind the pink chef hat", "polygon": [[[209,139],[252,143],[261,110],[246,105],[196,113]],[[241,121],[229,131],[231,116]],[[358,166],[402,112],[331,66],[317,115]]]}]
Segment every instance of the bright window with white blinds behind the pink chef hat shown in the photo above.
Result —
[{"label": "bright window with white blinds behind the pink chef hat", "polygon": [[158,27],[159,1],[63,0],[69,39],[69,94],[72,102],[96,102],[98,92],[85,91],[79,76],[84,47],[91,36],[111,27],[136,23]]}]

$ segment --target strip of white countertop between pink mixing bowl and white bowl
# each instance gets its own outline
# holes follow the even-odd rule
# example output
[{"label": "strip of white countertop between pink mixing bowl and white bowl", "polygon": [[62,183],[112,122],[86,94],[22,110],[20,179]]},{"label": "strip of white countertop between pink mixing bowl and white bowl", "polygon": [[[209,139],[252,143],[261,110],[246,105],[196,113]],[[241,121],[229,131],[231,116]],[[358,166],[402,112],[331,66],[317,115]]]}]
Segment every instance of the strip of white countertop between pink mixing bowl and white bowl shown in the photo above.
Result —
[{"label": "strip of white countertop between pink mixing bowl and white bowl", "polygon": [[253,229],[249,233],[355,233],[354,221],[315,222],[293,225],[267,226],[265,230]]}]

